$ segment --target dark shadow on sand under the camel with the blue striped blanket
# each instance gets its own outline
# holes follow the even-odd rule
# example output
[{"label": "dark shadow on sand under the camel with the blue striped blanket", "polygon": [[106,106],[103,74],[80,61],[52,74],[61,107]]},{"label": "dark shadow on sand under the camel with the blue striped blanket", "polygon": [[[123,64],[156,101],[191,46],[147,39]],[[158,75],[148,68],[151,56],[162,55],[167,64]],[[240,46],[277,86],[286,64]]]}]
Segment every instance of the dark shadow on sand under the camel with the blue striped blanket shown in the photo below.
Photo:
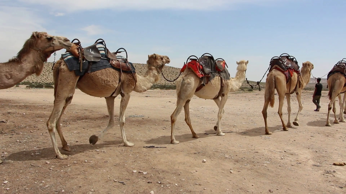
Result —
[{"label": "dark shadow on sand under the camel with the blue striped blanket", "polygon": [[[93,150],[93,149],[100,149],[104,147],[116,147],[115,145],[121,144],[120,141],[107,141],[103,142],[101,144],[78,144],[78,145],[72,145],[69,146],[71,148],[71,152],[66,152],[61,149],[61,145],[58,146],[60,152],[65,155],[75,155],[79,154],[88,150]],[[38,155],[34,154],[34,156],[31,156],[31,153],[40,153]],[[37,160],[43,160],[43,159],[54,159],[55,158],[55,153],[53,146],[51,147],[45,147],[45,148],[40,148],[40,149],[33,149],[33,150],[25,150],[25,151],[20,151],[13,153],[6,157],[6,160],[12,160],[12,161],[37,161]]]}]

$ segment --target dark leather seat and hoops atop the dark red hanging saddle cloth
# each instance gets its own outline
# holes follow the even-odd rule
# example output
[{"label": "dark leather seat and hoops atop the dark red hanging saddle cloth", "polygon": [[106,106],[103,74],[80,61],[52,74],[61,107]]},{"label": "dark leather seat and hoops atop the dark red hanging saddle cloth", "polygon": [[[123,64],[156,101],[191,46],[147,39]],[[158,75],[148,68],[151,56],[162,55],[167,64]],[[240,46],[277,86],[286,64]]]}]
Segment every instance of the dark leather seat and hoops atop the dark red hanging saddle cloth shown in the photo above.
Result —
[{"label": "dark leather seat and hoops atop the dark red hanging saddle cloth", "polygon": [[287,71],[288,68],[295,71],[299,71],[300,69],[297,59],[287,53],[283,53],[279,57],[273,57],[270,60],[270,71],[275,65],[280,67],[283,71]]}]

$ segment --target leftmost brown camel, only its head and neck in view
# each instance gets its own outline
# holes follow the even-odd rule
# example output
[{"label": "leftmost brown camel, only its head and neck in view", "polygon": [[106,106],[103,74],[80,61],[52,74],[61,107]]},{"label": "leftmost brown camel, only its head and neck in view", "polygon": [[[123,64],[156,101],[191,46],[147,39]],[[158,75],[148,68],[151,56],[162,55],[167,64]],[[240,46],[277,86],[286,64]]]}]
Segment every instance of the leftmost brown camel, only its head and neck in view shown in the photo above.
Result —
[{"label": "leftmost brown camel, only its head and neck in view", "polygon": [[70,49],[71,46],[72,43],[66,37],[33,32],[16,57],[0,63],[0,89],[13,87],[35,73],[39,76],[44,62],[53,52],[63,48]]}]

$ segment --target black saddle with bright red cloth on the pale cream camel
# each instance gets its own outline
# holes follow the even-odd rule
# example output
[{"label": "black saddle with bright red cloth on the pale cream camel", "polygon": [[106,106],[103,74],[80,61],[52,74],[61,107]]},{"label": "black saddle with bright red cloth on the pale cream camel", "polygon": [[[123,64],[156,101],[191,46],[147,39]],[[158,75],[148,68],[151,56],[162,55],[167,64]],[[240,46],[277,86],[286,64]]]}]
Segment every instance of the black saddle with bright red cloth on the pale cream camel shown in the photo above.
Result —
[{"label": "black saddle with bright red cloth on the pale cream camel", "polygon": [[[222,93],[222,87],[224,86],[224,80],[230,79],[230,74],[225,66],[226,61],[222,58],[214,59],[209,53],[203,54],[200,58],[191,55],[184,64],[180,72],[183,72],[186,68],[192,69],[195,74],[201,79],[201,85],[195,90],[195,92],[201,90],[209,81],[213,80],[215,76],[220,76],[220,91],[219,94],[213,98],[217,99]],[[191,58],[191,57],[195,57]],[[190,59],[190,61],[189,61]],[[188,62],[189,61],[189,62]],[[227,66],[228,67],[228,66]]]}]

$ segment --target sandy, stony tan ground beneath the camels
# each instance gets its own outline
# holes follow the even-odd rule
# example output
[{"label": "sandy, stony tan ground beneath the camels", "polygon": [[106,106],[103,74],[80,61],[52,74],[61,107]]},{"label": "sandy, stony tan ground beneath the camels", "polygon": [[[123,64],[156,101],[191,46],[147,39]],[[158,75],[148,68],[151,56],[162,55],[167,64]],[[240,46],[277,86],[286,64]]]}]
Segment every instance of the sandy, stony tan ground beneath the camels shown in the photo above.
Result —
[{"label": "sandy, stony tan ground beneath the camels", "polygon": [[[134,92],[125,131],[135,146],[124,147],[119,126],[97,144],[89,144],[89,137],[107,126],[106,102],[76,90],[62,117],[72,151],[61,151],[69,158],[59,160],[46,127],[53,90],[0,90],[0,121],[4,120],[0,122],[0,193],[346,193],[346,166],[330,165],[346,162],[346,123],[331,120],[333,126],[325,127],[326,95],[324,91],[322,109],[315,112],[312,91],[304,91],[300,126],[289,131],[281,130],[275,95],[275,106],[268,109],[268,125],[274,133],[265,135],[263,90],[230,94],[221,120],[223,132],[229,132],[225,136],[204,134],[215,133],[218,108],[212,100],[195,97],[190,115],[200,138],[192,138],[182,112],[176,124],[180,144],[173,145],[170,115],[175,90]],[[116,98],[116,119],[119,103]],[[291,103],[294,119],[295,96]],[[285,122],[286,107],[285,101]],[[58,136],[57,142],[61,148]],[[143,147],[151,145],[165,148]]]}]

